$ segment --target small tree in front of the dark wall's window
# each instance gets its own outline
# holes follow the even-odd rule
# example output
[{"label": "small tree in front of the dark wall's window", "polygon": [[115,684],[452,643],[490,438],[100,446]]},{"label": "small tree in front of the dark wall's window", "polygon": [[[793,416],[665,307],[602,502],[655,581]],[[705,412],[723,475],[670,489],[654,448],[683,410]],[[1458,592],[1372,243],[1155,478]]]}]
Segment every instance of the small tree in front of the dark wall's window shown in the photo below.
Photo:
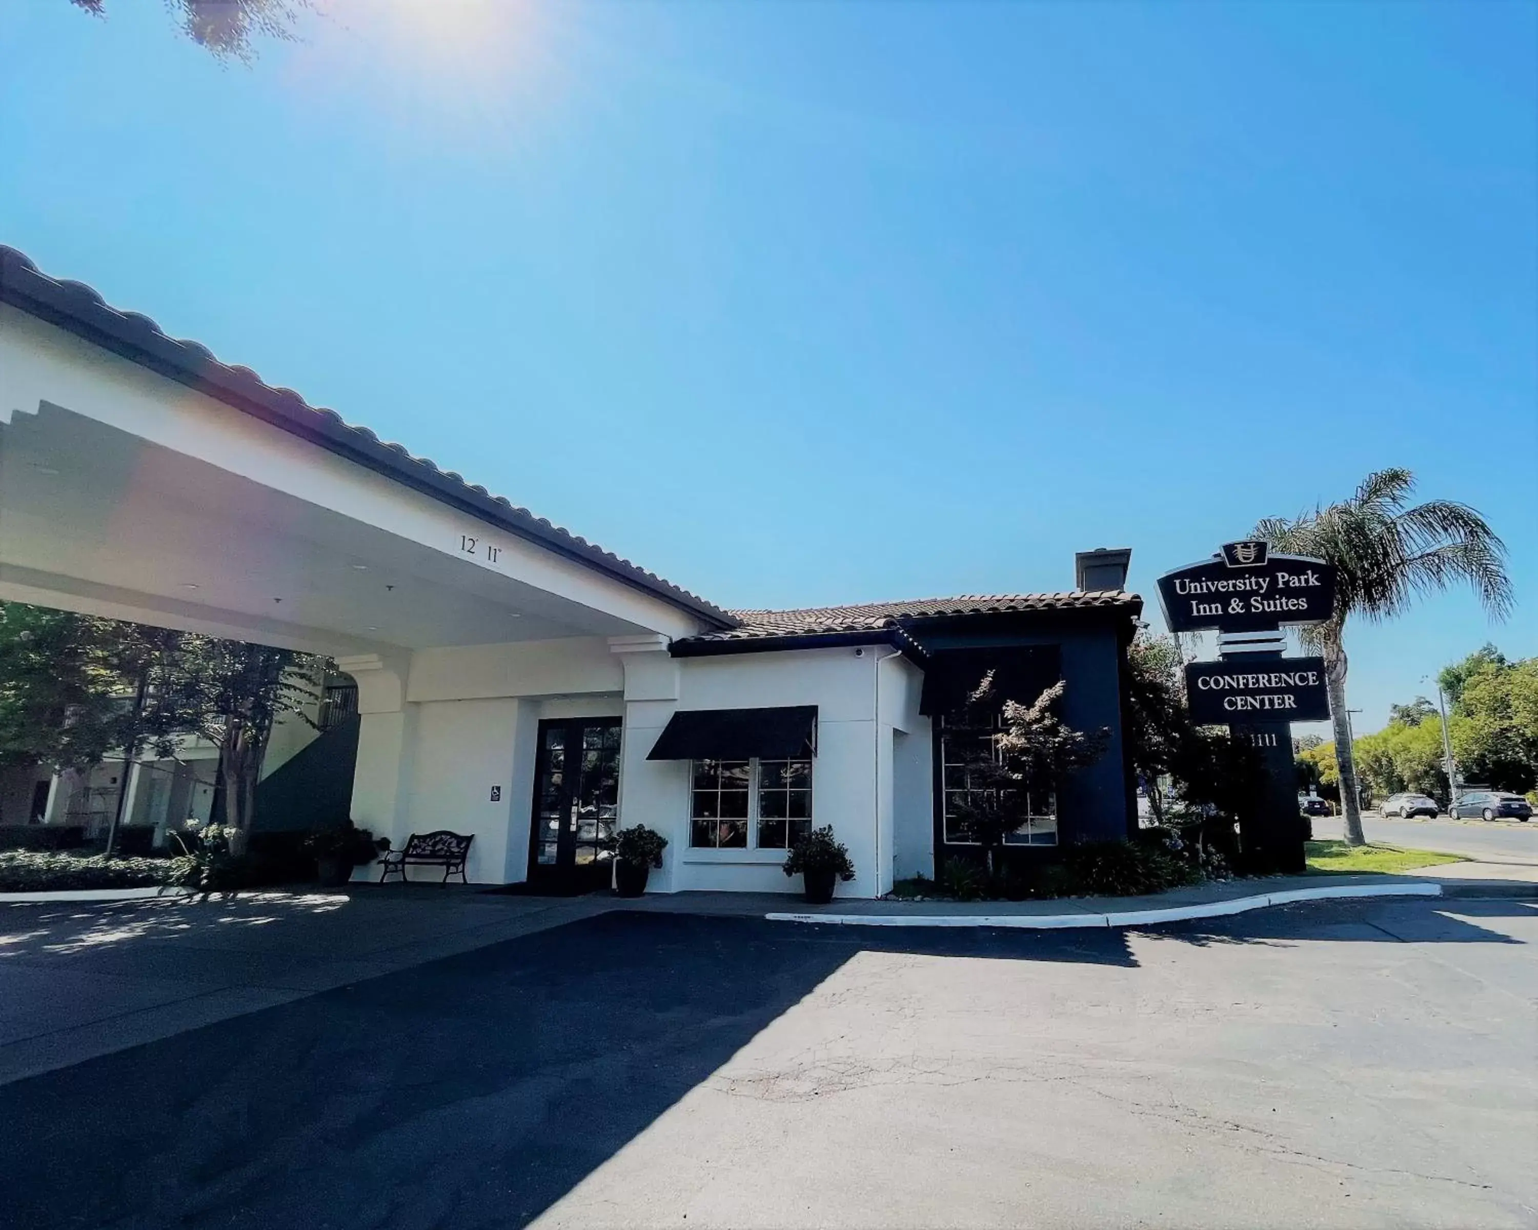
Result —
[{"label": "small tree in front of the dark wall's window", "polygon": [[[992,736],[992,757],[972,767],[972,788],[957,807],[963,830],[983,847],[989,879],[998,877],[998,851],[1030,816],[1030,793],[1055,794],[1075,768],[1094,764],[1110,731],[1074,730],[1055,710],[1067,685],[1058,680],[1034,704],[1004,702],[1003,728]],[[974,714],[994,710],[994,673],[967,697]]]}]

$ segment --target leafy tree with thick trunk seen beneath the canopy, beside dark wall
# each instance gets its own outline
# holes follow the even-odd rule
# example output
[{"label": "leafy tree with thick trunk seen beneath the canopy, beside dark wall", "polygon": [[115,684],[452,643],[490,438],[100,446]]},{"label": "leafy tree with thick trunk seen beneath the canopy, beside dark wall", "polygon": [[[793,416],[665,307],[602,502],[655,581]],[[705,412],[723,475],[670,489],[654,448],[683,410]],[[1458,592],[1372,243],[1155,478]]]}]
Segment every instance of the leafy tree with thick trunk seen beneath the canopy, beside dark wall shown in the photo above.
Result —
[{"label": "leafy tree with thick trunk seen beneath the canopy, beside dark wall", "polygon": [[245,853],[251,837],[257,780],[272,724],[283,714],[295,714],[314,725],[306,710],[318,691],[311,680],[325,663],[323,657],[294,650],[192,634],[157,662],[149,687],[155,720],[218,747],[225,824],[234,854]]}]

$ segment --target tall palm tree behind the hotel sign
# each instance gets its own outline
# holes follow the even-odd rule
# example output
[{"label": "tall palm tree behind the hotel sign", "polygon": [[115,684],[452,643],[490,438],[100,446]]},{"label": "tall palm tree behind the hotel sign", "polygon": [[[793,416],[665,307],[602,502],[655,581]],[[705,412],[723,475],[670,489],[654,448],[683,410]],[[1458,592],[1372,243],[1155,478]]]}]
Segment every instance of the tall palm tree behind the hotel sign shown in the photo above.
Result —
[{"label": "tall palm tree behind the hotel sign", "polygon": [[1255,526],[1255,537],[1275,550],[1317,556],[1337,568],[1335,614],[1304,628],[1303,642],[1324,657],[1349,845],[1364,845],[1366,837],[1346,713],[1346,619],[1393,619],[1416,597],[1455,582],[1472,585],[1492,619],[1503,619],[1512,608],[1506,545],[1484,517],[1453,500],[1406,506],[1413,490],[1409,470],[1380,470],[1363,479],[1349,500]]}]

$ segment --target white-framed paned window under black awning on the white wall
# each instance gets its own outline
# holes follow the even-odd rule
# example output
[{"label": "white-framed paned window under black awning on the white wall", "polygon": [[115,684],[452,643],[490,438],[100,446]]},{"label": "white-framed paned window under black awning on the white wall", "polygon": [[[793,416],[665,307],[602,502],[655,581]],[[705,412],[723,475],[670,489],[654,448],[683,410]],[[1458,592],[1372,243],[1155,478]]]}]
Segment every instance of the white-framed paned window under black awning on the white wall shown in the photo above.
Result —
[{"label": "white-framed paned window under black awning on the white wall", "polygon": [[812,760],[694,760],[689,845],[787,850],[812,827]]}]

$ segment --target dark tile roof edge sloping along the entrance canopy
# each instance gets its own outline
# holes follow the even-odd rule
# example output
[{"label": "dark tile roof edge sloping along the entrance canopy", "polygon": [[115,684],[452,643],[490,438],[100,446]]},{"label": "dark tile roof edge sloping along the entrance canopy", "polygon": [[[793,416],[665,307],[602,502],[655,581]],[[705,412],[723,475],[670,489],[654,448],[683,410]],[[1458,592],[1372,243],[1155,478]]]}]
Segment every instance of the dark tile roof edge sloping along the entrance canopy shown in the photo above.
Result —
[{"label": "dark tile roof edge sloping along the entrance canopy", "polygon": [[466,483],[452,470],[440,470],[426,457],[414,457],[404,445],[381,442],[366,426],[343,422],[334,409],[312,406],[294,389],[268,385],[251,368],[221,363],[208,346],[171,337],[148,316],[112,308],[83,282],[49,277],[25,254],[5,245],[0,245],[0,302],[11,303],[29,316],[48,320],[140,366],[158,371],[509,533],[644,590],[701,616],[715,627],[729,628],[737,622],[734,616],[698,594],[663,580],[655,573],[604,551],[544,517],[535,517],[528,508],[518,508],[504,496],[492,496],[478,483]]}]

